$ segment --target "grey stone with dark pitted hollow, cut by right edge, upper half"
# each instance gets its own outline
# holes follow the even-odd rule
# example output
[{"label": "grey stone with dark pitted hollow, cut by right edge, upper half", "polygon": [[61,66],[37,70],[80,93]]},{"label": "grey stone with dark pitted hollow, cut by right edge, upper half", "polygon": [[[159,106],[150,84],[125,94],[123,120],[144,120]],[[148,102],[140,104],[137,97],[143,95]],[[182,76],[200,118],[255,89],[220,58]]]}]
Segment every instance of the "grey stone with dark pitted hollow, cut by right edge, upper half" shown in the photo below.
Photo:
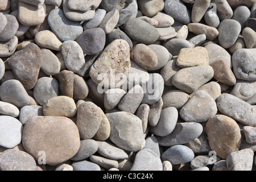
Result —
[{"label": "grey stone with dark pitted hollow, cut by right edge, upper half", "polygon": [[237,79],[256,80],[256,53],[254,49],[238,49],[233,53],[233,72]]}]

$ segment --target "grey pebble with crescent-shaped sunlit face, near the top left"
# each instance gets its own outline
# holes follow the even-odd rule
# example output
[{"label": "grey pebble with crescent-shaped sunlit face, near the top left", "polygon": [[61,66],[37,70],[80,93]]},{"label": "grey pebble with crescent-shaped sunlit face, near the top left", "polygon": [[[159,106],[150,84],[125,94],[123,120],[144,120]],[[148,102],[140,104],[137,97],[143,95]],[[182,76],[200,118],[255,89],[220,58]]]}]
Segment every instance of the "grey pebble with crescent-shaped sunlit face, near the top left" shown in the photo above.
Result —
[{"label": "grey pebble with crescent-shaped sunlit face, near the top left", "polygon": [[68,19],[61,9],[54,9],[49,13],[48,23],[55,35],[63,42],[75,40],[83,32],[81,24]]}]

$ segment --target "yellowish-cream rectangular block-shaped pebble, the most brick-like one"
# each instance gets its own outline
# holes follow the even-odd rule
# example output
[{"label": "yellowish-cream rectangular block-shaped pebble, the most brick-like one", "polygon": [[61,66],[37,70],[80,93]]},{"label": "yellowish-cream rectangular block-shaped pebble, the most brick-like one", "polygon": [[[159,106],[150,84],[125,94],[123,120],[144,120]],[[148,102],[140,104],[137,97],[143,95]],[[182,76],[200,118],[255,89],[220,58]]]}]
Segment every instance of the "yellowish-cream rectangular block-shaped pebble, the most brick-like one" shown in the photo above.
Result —
[{"label": "yellowish-cream rectangular block-shaped pebble, the most brick-like one", "polygon": [[199,46],[195,48],[183,48],[180,50],[176,64],[181,68],[209,65],[207,49]]}]

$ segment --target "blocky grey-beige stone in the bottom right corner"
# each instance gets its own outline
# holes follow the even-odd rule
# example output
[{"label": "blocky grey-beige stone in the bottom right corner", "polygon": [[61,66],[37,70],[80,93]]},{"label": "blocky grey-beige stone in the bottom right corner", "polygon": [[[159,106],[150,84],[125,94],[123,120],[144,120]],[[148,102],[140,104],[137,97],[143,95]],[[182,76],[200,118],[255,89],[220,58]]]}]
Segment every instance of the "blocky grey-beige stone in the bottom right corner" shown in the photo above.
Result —
[{"label": "blocky grey-beige stone in the bottom right corner", "polygon": [[234,151],[226,158],[229,171],[251,171],[253,168],[253,150],[249,148]]}]

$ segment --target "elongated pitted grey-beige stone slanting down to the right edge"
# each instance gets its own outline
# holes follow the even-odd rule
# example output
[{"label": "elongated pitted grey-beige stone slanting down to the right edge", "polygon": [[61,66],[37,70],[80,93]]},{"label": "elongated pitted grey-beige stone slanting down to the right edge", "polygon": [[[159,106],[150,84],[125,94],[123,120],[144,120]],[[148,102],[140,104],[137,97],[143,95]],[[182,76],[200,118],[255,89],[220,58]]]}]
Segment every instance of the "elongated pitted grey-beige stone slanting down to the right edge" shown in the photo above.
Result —
[{"label": "elongated pitted grey-beige stone slanting down to the right edge", "polygon": [[217,98],[217,107],[221,113],[243,123],[243,125],[256,125],[255,107],[232,94],[221,94]]}]

